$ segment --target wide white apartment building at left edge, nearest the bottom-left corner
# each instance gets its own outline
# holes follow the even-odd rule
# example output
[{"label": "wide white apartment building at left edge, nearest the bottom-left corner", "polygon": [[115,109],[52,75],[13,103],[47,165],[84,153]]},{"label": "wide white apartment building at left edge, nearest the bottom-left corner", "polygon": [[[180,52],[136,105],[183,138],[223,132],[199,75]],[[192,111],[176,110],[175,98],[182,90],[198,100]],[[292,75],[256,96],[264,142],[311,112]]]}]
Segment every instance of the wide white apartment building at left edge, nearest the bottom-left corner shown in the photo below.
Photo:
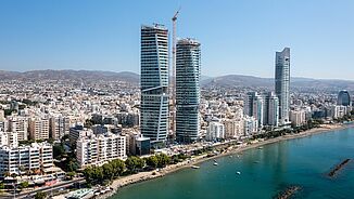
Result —
[{"label": "wide white apartment building at left edge, nearest the bottom-left corner", "polygon": [[[45,173],[53,167],[52,146],[48,143],[33,143],[27,146],[0,147],[0,176],[41,170]],[[22,171],[20,169],[23,168]]]}]

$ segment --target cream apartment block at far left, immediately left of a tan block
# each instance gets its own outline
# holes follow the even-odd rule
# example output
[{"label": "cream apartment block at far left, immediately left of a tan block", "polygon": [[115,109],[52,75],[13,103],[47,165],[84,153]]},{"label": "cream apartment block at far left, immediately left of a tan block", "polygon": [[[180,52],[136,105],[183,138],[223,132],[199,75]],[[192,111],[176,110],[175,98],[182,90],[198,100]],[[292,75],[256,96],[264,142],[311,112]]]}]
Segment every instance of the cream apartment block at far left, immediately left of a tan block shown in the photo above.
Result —
[{"label": "cream apartment block at far left, immediately left of a tan block", "polygon": [[17,133],[18,141],[28,140],[28,118],[12,117],[9,119],[9,131]]}]

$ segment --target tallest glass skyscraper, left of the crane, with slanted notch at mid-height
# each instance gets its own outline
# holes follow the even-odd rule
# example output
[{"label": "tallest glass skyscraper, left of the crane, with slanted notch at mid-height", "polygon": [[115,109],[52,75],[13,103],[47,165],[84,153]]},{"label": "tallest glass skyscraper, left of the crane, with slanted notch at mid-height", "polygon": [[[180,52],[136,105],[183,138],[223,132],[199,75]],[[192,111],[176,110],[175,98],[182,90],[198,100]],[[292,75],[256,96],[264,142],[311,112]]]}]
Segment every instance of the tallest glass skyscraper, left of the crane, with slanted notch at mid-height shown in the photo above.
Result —
[{"label": "tallest glass skyscraper, left of the crane, with slanted notch at mid-height", "polygon": [[168,30],[141,27],[140,130],[151,143],[165,142],[168,131]]}]

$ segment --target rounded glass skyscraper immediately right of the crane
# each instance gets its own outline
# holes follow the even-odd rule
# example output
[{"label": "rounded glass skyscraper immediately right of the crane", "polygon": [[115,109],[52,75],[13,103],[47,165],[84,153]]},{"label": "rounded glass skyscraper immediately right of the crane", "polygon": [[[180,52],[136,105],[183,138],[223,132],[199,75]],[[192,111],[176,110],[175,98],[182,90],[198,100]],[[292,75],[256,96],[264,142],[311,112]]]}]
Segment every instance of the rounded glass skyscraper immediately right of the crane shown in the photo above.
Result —
[{"label": "rounded glass skyscraper immediately right of the crane", "polygon": [[200,136],[200,43],[192,39],[178,40],[176,47],[176,138],[191,143]]}]

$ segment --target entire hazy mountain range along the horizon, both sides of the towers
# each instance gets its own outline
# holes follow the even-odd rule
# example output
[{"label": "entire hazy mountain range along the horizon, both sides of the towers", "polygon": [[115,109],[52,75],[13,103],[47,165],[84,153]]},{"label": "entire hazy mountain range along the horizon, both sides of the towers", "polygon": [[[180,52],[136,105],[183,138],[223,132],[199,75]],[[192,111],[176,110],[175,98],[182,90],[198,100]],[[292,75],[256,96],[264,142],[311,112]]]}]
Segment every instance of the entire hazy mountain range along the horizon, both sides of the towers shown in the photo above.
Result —
[{"label": "entire hazy mountain range along the horizon, both sides of the towers", "polygon": [[[31,70],[25,72],[0,70],[0,80],[77,80],[77,81],[125,81],[131,84],[139,84],[140,75],[122,71],[100,70]],[[219,77],[201,76],[203,88],[265,88],[274,89],[273,78],[260,78],[254,76],[227,75]],[[354,81],[350,80],[327,80],[292,77],[290,87],[299,90],[349,90],[354,91]]]}]

